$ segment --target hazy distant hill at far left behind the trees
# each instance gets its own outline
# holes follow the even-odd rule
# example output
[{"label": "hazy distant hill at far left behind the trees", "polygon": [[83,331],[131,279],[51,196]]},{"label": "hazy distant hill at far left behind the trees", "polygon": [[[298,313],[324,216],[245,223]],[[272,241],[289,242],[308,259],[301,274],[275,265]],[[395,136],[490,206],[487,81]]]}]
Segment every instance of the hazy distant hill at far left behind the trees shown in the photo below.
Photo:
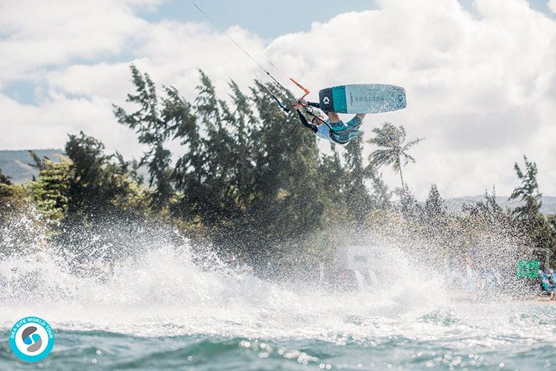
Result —
[{"label": "hazy distant hill at far left behind the trees", "polygon": [[[57,161],[57,155],[62,155],[61,149],[34,149],[35,154],[40,158],[44,156],[53,161]],[[0,169],[4,175],[12,177],[15,183],[25,183],[37,176],[38,171],[29,164],[33,163],[33,158],[26,150],[22,151],[0,151]]]}]

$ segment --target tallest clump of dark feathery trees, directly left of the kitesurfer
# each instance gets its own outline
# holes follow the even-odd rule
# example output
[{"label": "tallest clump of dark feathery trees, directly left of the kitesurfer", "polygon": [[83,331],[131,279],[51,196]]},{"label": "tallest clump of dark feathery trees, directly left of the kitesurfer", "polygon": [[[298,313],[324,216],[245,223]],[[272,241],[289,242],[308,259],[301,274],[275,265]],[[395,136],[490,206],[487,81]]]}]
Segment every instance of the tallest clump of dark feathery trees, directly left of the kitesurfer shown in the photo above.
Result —
[{"label": "tallest clump of dark feathery trees, directly left of the kitesurfer", "polygon": [[[256,260],[265,246],[316,231],[325,210],[340,203],[329,192],[341,192],[330,186],[338,179],[322,180],[330,169],[314,136],[297,117],[269,104],[263,85],[247,95],[230,81],[231,94],[223,100],[201,71],[189,104],[174,88],[158,97],[148,74],[133,66],[131,72],[136,94],[127,100],[139,110],[129,114],[114,106],[114,113],[149,146],[141,163],[149,167],[155,208],[170,206],[172,217],[210,228],[218,245],[241,245],[238,253]],[[183,146],[173,168],[162,150],[168,140]],[[335,156],[336,170],[343,171]]]}]

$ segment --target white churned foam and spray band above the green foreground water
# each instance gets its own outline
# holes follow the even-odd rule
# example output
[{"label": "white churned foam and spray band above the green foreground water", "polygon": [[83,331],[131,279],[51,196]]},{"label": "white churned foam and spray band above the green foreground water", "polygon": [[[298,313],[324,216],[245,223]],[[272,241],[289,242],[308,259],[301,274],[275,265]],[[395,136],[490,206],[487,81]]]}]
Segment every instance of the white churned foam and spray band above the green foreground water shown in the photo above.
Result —
[{"label": "white churned foam and spray band above the green foreground water", "polygon": [[[24,315],[58,329],[140,336],[216,334],[253,338],[455,339],[490,347],[506,338],[556,342],[556,311],[546,303],[464,302],[443,280],[391,259],[395,280],[380,290],[331,293],[318,286],[270,283],[218,263],[199,266],[188,245],[146,249],[106,276],[78,277],[49,252],[0,261],[0,325]],[[338,340],[339,339],[339,340]]]}]

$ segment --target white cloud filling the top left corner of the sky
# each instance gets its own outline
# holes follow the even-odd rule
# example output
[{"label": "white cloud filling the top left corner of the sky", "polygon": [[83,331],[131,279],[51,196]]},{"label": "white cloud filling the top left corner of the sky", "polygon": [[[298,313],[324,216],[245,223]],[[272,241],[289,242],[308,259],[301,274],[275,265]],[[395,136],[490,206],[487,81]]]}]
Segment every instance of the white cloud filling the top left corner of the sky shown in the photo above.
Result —
[{"label": "white cloud filling the top left corner of the sky", "polygon": [[[120,53],[147,22],[130,1],[0,1],[0,83],[39,68]],[[140,1],[140,6],[146,6]]]}]

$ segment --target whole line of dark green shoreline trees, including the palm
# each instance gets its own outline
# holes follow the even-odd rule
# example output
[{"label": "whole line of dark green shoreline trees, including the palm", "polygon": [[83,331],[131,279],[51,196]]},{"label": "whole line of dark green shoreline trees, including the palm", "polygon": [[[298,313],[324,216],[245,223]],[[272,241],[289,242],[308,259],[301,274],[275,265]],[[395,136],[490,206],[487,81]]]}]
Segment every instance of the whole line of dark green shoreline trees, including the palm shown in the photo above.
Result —
[{"label": "whole line of dark green shoreline trees, including the palm", "polygon": [[[27,188],[9,186],[0,172],[0,222],[33,201],[59,225],[59,240],[79,247],[74,240],[81,231],[101,228],[99,221],[154,216],[193,238],[210,239],[222,256],[255,267],[281,261],[284,269],[300,261],[332,263],[333,249],[362,228],[415,241],[415,249],[421,248],[419,240],[427,240],[446,255],[496,233],[534,247],[556,245],[556,216],[539,213],[537,166],[527,158],[525,171],[516,164],[521,186],[512,199],[524,202],[516,213],[503,211],[493,191],[466,206],[463,215],[450,215],[436,185],[424,203],[409,192],[402,167],[415,162],[408,152],[421,139],[406,142],[403,126],[386,122],[373,129],[368,142],[378,148],[368,165],[361,135],[343,151],[332,145],[320,154],[315,136],[297,115],[284,114],[269,99],[272,85],[255,81],[246,93],[230,81],[229,97],[220,99],[208,76],[199,74],[190,103],[172,87],[163,86],[158,96],[149,75],[132,65],[136,90],[127,101],[137,109],[113,108],[117,120],[147,147],[139,162],[105,154],[104,145],[84,133],[70,135],[67,158],[58,163],[31,153],[39,176]],[[167,149],[172,141],[181,144],[174,157]],[[399,201],[391,201],[378,172],[382,165],[400,172]],[[141,185],[140,166],[149,172],[150,188]]]}]

